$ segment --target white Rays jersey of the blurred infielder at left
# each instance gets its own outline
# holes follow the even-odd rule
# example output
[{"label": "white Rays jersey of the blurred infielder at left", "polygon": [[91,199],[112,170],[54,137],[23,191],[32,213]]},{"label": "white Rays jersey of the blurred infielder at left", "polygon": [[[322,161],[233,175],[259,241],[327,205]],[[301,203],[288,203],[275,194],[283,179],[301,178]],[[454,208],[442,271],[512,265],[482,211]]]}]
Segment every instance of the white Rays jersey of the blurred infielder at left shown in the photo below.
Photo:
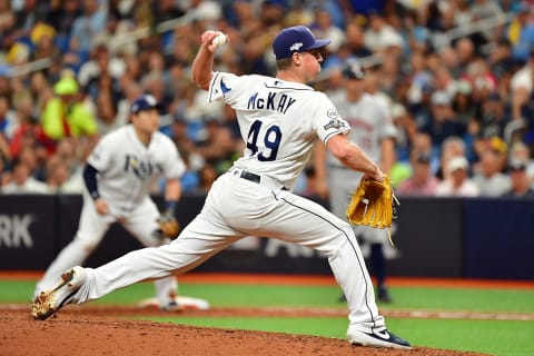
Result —
[{"label": "white Rays jersey of the blurred infielder at left", "polygon": [[186,167],[175,144],[154,132],[148,147],[139,141],[131,125],[102,137],[89,156],[100,195],[110,207],[129,210],[142,201],[160,178],[178,178]]}]

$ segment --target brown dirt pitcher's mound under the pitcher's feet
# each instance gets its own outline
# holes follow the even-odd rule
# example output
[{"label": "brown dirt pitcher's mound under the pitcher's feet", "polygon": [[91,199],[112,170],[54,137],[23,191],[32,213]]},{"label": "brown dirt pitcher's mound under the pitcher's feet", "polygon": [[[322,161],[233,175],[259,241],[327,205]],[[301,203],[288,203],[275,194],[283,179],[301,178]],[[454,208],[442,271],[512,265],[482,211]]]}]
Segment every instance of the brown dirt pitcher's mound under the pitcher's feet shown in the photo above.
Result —
[{"label": "brown dirt pitcher's mound under the pitcher's feet", "polygon": [[[1,354],[4,356],[483,355],[427,347],[415,347],[412,350],[355,347],[337,338],[135,322],[116,315],[123,312],[126,310],[120,308],[118,313],[112,313],[109,307],[75,306],[61,310],[57,317],[41,322],[33,320],[29,309],[2,310]],[[144,315],[147,315],[146,310]]]}]

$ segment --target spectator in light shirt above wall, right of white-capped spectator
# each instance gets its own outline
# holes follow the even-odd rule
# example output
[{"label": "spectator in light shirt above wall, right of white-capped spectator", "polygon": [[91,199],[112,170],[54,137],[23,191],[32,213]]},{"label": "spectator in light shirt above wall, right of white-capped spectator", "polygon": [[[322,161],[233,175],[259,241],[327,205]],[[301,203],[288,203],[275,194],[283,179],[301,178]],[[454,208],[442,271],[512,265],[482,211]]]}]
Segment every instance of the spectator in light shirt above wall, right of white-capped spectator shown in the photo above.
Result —
[{"label": "spectator in light shirt above wall, right of white-capped spectator", "polygon": [[498,197],[510,190],[510,177],[501,172],[500,156],[485,150],[481,157],[479,171],[473,177],[482,197]]}]

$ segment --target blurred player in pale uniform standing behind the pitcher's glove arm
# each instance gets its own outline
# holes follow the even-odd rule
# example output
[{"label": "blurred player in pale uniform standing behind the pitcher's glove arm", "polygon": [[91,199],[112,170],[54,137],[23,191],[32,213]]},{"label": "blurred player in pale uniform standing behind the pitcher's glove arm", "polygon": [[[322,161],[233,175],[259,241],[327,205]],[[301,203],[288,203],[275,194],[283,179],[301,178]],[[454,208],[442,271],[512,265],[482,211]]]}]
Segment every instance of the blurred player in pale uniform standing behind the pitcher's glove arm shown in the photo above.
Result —
[{"label": "blurred player in pale uniform standing behind the pitcher's glove arm", "polygon": [[[346,80],[345,90],[333,102],[352,128],[348,137],[388,174],[395,162],[396,135],[389,109],[382,100],[365,92],[365,72],[358,62],[347,63],[342,75]],[[325,191],[329,192],[332,211],[345,219],[350,196],[363,174],[343,166],[332,154],[326,155],[324,147],[317,145],[315,151],[317,177],[323,182],[319,189],[323,196],[326,196]],[[384,258],[384,247],[389,247],[388,231],[368,226],[355,226],[354,231],[364,244],[370,245],[370,265],[377,279],[378,299],[392,301],[386,288]]]}]

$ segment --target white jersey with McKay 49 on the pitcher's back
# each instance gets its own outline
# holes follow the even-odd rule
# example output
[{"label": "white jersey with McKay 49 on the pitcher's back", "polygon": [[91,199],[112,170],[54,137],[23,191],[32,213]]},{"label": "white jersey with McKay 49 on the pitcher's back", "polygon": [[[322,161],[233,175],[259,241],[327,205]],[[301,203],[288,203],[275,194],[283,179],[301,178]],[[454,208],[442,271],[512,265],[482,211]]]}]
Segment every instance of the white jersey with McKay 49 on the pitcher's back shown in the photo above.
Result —
[{"label": "white jersey with McKay 49 on the pitcher's back", "polygon": [[[293,189],[317,137],[325,144],[349,127],[332,101],[306,85],[264,76],[216,72],[208,101],[224,100],[237,115],[246,142],[235,166]],[[288,138],[293,137],[291,141]]]}]

